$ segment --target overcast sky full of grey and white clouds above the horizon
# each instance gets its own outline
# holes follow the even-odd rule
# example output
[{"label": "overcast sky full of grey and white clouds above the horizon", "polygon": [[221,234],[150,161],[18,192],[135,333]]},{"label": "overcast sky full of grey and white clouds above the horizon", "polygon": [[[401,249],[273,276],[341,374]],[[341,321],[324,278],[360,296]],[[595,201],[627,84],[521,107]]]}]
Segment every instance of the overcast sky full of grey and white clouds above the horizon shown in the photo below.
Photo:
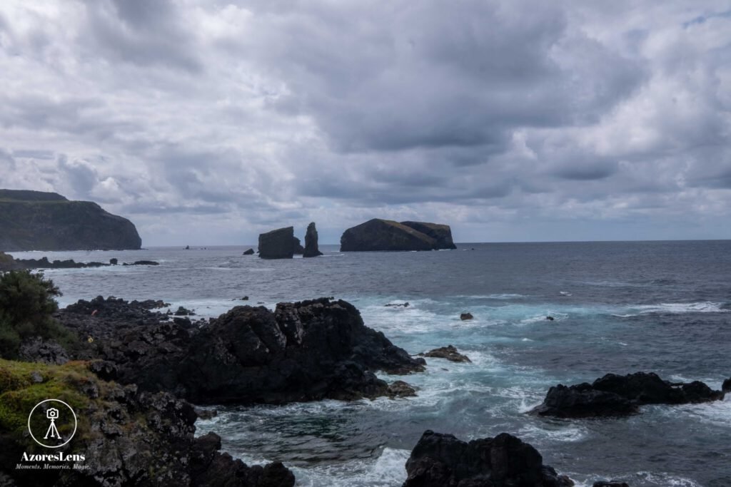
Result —
[{"label": "overcast sky full of grey and white clouds above the horizon", "polygon": [[728,1],[4,0],[0,187],[143,245],[731,238]]}]

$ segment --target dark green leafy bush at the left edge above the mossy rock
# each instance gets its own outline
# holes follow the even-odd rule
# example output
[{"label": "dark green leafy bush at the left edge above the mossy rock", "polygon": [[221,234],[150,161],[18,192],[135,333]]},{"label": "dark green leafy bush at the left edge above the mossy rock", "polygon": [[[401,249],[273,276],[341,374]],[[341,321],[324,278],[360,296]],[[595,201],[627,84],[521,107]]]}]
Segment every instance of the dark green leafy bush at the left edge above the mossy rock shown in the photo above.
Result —
[{"label": "dark green leafy bush at the left edge above the mossy rock", "polygon": [[20,342],[31,337],[56,340],[69,349],[77,338],[53,319],[61,291],[42,272],[10,271],[0,275],[0,357],[17,358]]}]

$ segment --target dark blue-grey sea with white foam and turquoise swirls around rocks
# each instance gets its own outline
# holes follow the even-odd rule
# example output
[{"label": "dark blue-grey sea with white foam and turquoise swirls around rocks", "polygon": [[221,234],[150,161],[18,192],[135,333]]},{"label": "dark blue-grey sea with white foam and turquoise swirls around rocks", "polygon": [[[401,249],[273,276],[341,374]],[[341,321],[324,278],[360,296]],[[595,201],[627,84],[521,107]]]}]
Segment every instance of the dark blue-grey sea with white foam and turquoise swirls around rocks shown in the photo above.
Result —
[{"label": "dark blue-grey sea with white foam and turquoise swirls around rocks", "polygon": [[[336,296],[410,353],[452,344],[472,364],[428,360],[401,378],[411,399],[225,407],[214,431],[247,463],[280,459],[300,486],[398,486],[425,429],[516,434],[579,486],[731,486],[731,397],[643,407],[632,418],[563,421],[526,411],[556,383],[654,371],[720,388],[731,377],[731,241],[462,244],[426,253],[262,261],[246,247],[44,253],[157,267],[48,271],[62,304],[96,295],[164,299],[216,316],[250,304]],[[473,250],[474,249],[474,250]],[[39,253],[13,253],[39,257]],[[408,301],[411,306],[385,307]],[[461,321],[469,311],[473,321]],[[555,321],[546,321],[547,315]]]}]

